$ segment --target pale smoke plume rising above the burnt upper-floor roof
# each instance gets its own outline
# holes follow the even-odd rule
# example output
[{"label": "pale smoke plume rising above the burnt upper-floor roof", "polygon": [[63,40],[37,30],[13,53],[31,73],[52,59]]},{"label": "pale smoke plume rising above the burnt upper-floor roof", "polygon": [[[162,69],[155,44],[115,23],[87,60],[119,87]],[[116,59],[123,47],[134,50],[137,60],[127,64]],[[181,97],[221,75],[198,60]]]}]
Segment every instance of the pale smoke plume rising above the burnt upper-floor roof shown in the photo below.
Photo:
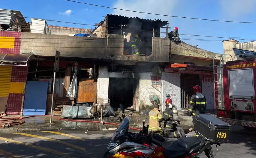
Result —
[{"label": "pale smoke plume rising above the burnt upper-floor roof", "polygon": [[[150,12],[156,14],[171,14],[173,8],[175,7],[176,2],[173,0],[117,0],[114,3],[114,8],[126,9],[126,10],[133,10],[133,11],[140,11],[140,12]],[[136,12],[129,12],[123,10],[113,10],[115,15],[122,15],[128,17],[139,17],[144,19],[161,19],[163,16],[157,15],[149,15],[143,13],[136,13]]]}]

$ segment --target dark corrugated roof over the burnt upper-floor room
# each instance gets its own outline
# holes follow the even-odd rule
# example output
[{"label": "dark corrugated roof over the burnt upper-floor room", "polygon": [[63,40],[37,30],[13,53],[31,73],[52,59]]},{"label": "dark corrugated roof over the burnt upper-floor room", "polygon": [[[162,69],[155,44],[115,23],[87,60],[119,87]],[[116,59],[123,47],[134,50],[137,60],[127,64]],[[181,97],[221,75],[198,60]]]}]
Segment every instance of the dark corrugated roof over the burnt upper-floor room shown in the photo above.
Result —
[{"label": "dark corrugated roof over the burnt upper-floor room", "polygon": [[163,27],[168,24],[168,21],[162,21],[160,19],[150,20],[141,19],[139,17],[126,17],[121,15],[107,14],[108,25],[130,25],[133,21],[138,21],[143,24],[151,24],[155,27]]}]

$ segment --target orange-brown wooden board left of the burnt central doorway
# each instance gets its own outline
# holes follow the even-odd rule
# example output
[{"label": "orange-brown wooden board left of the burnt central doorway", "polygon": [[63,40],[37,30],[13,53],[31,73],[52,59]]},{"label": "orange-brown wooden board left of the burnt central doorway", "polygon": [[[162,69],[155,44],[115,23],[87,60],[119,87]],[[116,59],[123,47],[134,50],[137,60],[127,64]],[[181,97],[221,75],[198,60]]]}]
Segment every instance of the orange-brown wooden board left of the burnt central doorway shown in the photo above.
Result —
[{"label": "orange-brown wooden board left of the burnt central doorway", "polygon": [[77,102],[94,102],[97,98],[97,82],[79,82]]}]

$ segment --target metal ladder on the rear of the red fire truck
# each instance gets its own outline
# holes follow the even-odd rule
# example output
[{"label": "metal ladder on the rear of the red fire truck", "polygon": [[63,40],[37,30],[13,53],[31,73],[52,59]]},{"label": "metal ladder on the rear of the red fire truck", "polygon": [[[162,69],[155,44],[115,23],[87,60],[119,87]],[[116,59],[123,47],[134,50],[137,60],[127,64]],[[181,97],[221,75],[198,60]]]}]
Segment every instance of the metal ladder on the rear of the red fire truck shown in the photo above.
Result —
[{"label": "metal ladder on the rear of the red fire truck", "polygon": [[[223,56],[231,56],[231,59],[233,61],[232,55],[215,55],[213,57],[213,81],[214,81],[214,107],[216,109],[225,109],[224,106],[224,97],[223,97],[223,66],[222,64],[225,64],[223,60]],[[215,64],[215,57],[220,58],[220,64],[216,65]],[[215,66],[216,66],[216,71],[215,71]],[[216,79],[215,79],[216,76]],[[217,92],[217,96],[216,96]],[[218,104],[216,104],[216,101]]]}]

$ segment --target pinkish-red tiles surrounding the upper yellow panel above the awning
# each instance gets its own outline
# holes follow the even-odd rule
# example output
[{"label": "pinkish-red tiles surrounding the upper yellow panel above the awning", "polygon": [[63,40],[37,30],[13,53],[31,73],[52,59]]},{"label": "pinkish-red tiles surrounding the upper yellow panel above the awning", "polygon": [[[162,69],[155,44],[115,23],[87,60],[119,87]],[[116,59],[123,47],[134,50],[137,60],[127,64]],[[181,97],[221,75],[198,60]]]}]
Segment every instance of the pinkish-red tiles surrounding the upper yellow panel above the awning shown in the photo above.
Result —
[{"label": "pinkish-red tiles surrounding the upper yellow panel above the awning", "polygon": [[13,32],[13,31],[0,31],[0,36],[4,37],[15,37],[14,48],[0,48],[1,54],[20,54],[21,49],[21,32]]}]

